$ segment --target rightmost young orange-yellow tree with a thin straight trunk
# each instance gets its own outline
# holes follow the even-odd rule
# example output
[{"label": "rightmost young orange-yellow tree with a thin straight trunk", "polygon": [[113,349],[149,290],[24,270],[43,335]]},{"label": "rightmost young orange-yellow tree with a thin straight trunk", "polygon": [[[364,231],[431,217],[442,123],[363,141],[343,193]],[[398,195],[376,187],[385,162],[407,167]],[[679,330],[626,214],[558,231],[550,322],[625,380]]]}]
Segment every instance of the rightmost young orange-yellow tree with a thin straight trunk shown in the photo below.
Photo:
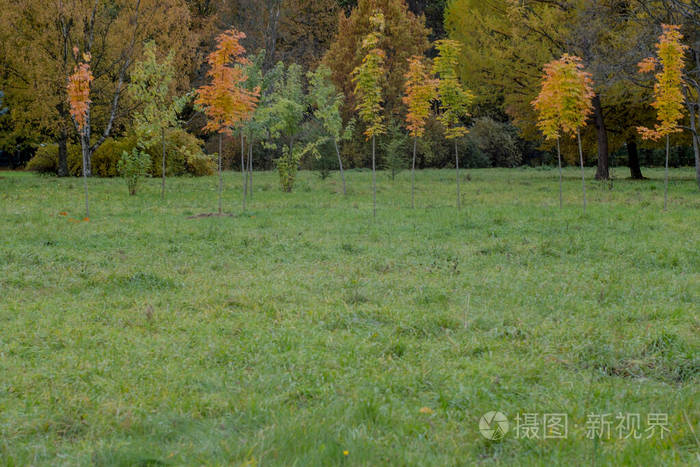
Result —
[{"label": "rightmost young orange-yellow tree with a thin straight trunk", "polygon": [[661,66],[655,78],[654,102],[659,121],[654,128],[638,127],[643,139],[654,141],[666,137],[666,172],[664,178],[664,211],[668,208],[668,155],[671,134],[681,131],[678,121],[683,118],[683,55],[688,46],[681,43],[680,26],[664,24],[663,32],[656,44],[657,57],[649,57],[639,63],[639,71],[651,73]]}]

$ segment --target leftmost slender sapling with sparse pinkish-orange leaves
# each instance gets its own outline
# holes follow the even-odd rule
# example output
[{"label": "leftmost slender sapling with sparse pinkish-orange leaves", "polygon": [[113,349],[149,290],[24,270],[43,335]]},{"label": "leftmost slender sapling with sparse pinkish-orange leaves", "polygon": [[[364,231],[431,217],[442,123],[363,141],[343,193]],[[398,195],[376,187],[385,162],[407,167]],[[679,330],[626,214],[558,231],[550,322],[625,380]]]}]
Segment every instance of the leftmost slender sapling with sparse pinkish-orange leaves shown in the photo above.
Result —
[{"label": "leftmost slender sapling with sparse pinkish-orange leaves", "polygon": [[[77,47],[73,53],[78,55]],[[80,135],[80,146],[83,154],[83,185],[85,187],[85,218],[90,218],[90,202],[88,200],[87,170],[88,158],[90,157],[90,84],[93,81],[92,71],[90,71],[90,54],[83,54],[83,62],[79,63],[73,70],[73,74],[68,77],[66,90],[68,92],[68,104],[70,114],[75,123],[75,128]]]}]

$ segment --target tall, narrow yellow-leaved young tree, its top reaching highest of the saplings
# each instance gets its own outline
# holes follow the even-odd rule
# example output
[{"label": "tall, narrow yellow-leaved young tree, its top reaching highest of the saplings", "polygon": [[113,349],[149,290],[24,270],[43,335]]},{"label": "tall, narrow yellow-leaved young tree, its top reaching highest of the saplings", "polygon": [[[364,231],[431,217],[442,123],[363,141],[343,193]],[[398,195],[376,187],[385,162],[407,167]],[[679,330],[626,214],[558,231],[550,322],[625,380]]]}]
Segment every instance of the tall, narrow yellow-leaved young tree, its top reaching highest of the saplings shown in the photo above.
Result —
[{"label": "tall, narrow yellow-leaved young tree, its top reaching highest of the saplings", "polygon": [[377,177],[376,177],[376,137],[386,133],[384,115],[382,114],[382,78],[386,74],[384,62],[386,53],[379,48],[379,41],[384,33],[384,15],[375,11],[370,17],[373,31],[362,41],[361,51],[365,53],[360,66],[353,70],[357,111],[360,120],[365,123],[365,136],[372,138],[372,214],[377,216]]}]

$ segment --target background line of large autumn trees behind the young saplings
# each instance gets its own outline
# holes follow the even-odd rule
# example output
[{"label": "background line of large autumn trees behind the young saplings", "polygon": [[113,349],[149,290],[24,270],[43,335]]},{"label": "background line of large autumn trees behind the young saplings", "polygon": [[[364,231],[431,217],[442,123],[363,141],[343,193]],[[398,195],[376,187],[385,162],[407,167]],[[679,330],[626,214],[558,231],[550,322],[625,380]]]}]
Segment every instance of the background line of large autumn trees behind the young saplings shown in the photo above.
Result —
[{"label": "background line of large autumn trees behind the young saplings", "polygon": [[[653,53],[662,24],[680,25],[684,44],[688,46],[683,56],[681,89],[685,109],[681,126],[687,131],[677,134],[672,141],[676,145],[692,146],[696,166],[700,167],[697,137],[700,14],[698,6],[687,0],[455,0],[449,5],[403,0],[223,3],[123,0],[109,4],[85,0],[69,5],[60,3],[56,8],[45,8],[35,0],[1,2],[3,11],[8,13],[0,20],[3,45],[0,89],[5,91],[10,112],[0,120],[0,145],[53,141],[57,145],[59,174],[68,172],[68,145],[80,140],[73,131],[65,83],[83,54],[91,56],[89,140],[94,151],[108,138],[134,131],[134,115],[143,104],[135,93],[127,90],[133,84],[135,64],[146,53],[146,43],[156,44],[159,58],[171,54],[174,76],[169,92],[183,96],[207,81],[209,67],[205,59],[215,46],[216,36],[231,25],[246,34],[241,38],[241,46],[249,51],[248,58],[257,67],[260,83],[268,83],[269,90],[262,93],[261,101],[272,94],[274,86],[270,81],[272,76],[280,75],[279,62],[287,68],[291,63],[299,66],[300,70],[294,73],[300,77],[304,93],[310,87],[308,73],[316,71],[319,64],[328,68],[333,86],[343,96],[339,111],[345,138],[335,139],[337,150],[329,139],[326,143],[331,151],[323,145],[309,151],[336,153],[333,156],[338,165],[344,163],[346,167],[370,166],[368,145],[372,138],[366,140],[366,122],[355,118],[359,96],[353,70],[364,59],[360,45],[372,32],[370,18],[374,11],[381,12],[386,22],[377,48],[386,55],[386,74],[381,83],[382,114],[390,130],[406,128],[404,84],[409,59],[437,57],[436,45],[446,38],[460,44],[456,76],[473,94],[471,116],[461,119],[467,128],[474,127],[471,135],[454,138],[462,154],[470,151],[470,141],[479,135],[484,135],[481,140],[486,141],[482,145],[485,150],[500,146],[488,142],[497,136],[515,141],[506,147],[528,144],[528,152],[553,152],[553,145],[536,131],[537,116],[530,103],[538,93],[545,63],[564,53],[581,57],[592,74],[595,91],[591,125],[581,134],[584,162],[596,162],[599,179],[610,177],[610,157],[619,148],[626,148],[629,154],[631,175],[642,176],[636,161],[637,150],[651,146],[639,138],[635,128],[651,126],[655,115],[649,105],[653,79],[640,75],[637,63]],[[74,47],[78,48],[77,55],[73,53]],[[294,80],[293,77],[291,81]],[[318,111],[308,100],[304,105],[302,123],[312,120],[313,113]],[[439,164],[447,163],[445,155],[450,149],[442,141],[449,129],[439,119],[439,102],[433,107],[437,112],[431,112],[426,120],[424,137],[414,140],[416,156],[409,157],[411,166],[414,163],[431,166],[438,159]],[[177,117],[190,133],[207,140],[210,152],[216,152],[216,139],[207,138],[201,131],[206,124],[205,116],[193,100],[183,104]],[[514,125],[517,131],[510,133],[509,125]],[[345,131],[346,127],[349,131]],[[273,133],[281,135],[284,131],[278,129]],[[302,136],[314,131],[305,128]],[[382,148],[395,133],[388,131],[382,135]],[[233,135],[225,135],[224,142],[232,138]],[[290,150],[288,144],[271,141],[264,128],[250,128],[245,138],[254,142],[261,154],[260,163],[265,166],[269,166],[271,159],[280,159],[285,147]],[[562,144],[569,143],[562,141]],[[302,146],[303,149],[305,144]],[[442,156],[438,158],[436,151]],[[235,154],[238,150],[226,154],[224,149],[228,160]],[[241,151],[239,155],[245,159],[241,165],[250,163],[249,154]],[[291,153],[287,157],[292,157]],[[507,160],[504,163],[508,165],[521,163],[517,157],[510,160],[507,155],[493,158]],[[452,165],[460,160],[464,162],[464,156],[453,158]],[[565,157],[564,162],[567,160],[573,162]],[[90,160],[87,166],[89,175]]]}]

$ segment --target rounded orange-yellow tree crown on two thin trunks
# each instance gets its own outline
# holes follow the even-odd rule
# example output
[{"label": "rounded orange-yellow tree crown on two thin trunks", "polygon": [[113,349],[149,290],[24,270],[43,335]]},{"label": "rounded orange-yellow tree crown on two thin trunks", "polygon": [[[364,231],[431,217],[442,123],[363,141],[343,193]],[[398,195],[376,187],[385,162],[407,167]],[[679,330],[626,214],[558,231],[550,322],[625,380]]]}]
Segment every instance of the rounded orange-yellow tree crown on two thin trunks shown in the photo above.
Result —
[{"label": "rounded orange-yellow tree crown on two thin trunks", "polygon": [[542,90],[532,102],[537,110],[538,123],[545,138],[557,140],[559,158],[559,206],[562,205],[561,152],[559,147],[560,130],[578,139],[579,160],[581,162],[581,183],[583,187],[583,212],[586,212],[586,177],[583,169],[583,147],[581,128],[593,112],[593,80],[584,71],[582,60],[564,54],[544,66]]}]

